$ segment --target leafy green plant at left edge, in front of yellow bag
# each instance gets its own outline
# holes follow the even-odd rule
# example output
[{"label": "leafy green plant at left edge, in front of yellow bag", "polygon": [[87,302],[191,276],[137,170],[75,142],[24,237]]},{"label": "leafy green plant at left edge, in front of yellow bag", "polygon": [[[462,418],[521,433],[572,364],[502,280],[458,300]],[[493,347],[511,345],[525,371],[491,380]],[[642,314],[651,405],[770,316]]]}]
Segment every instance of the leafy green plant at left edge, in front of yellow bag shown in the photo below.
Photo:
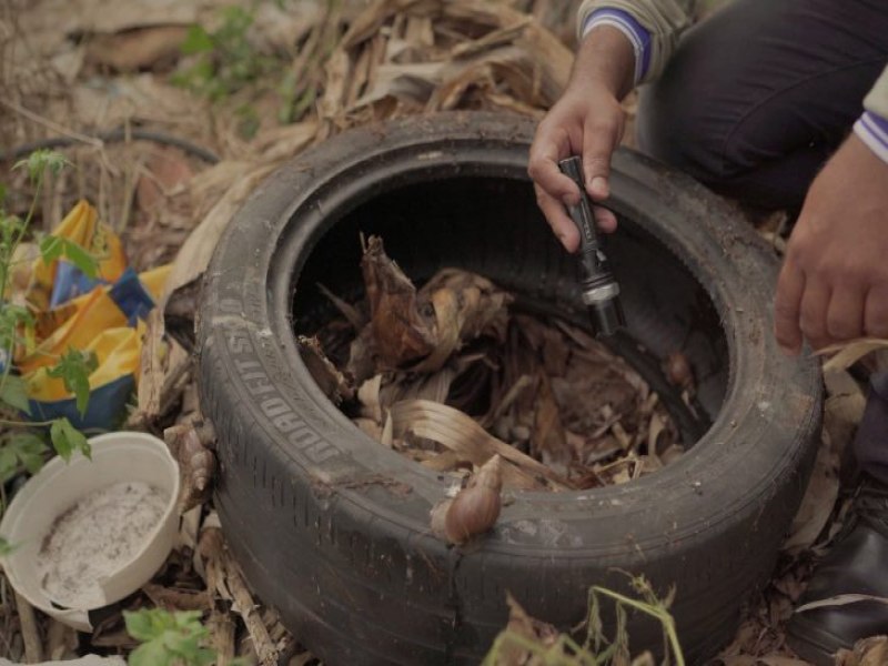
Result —
[{"label": "leafy green plant at left edge, in front of yellow bag", "polygon": [[[24,219],[6,211],[6,190],[0,190],[0,513],[6,504],[3,484],[21,472],[33,474],[43,465],[49,441],[56,452],[69,460],[74,451],[90,454],[85,436],[68,418],[52,421],[26,421],[19,414],[30,414],[24,380],[16,373],[14,353],[22,349],[31,352],[34,346],[34,319],[24,305],[9,301],[13,271],[24,259],[18,256],[22,242],[29,238],[30,225],[37,210],[37,201],[47,171],[60,172],[68,162],[52,151],[39,150],[13,165],[13,170],[27,170],[33,196]],[[31,234],[34,235],[34,234]],[[51,235],[37,236],[41,260],[49,263],[65,258],[85,275],[94,278],[98,260],[69,239]],[[77,400],[78,411],[85,413],[89,401],[89,375],[95,369],[95,357],[78,350],[69,350],[48,371],[52,377],[61,379],[65,389]],[[10,545],[0,539],[0,553]]]}]

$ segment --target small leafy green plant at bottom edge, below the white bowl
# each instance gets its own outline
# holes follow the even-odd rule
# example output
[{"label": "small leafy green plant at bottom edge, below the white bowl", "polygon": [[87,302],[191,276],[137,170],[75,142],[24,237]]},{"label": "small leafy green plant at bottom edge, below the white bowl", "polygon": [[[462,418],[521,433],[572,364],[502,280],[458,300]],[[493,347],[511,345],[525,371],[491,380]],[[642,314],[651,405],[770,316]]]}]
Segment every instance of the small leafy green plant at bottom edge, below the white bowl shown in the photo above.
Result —
[{"label": "small leafy green plant at bottom edge, below the white bowl", "polygon": [[141,642],[130,653],[130,666],[204,666],[216,660],[215,653],[204,646],[210,632],[201,624],[200,610],[143,608],[124,610],[123,619],[130,636]]}]

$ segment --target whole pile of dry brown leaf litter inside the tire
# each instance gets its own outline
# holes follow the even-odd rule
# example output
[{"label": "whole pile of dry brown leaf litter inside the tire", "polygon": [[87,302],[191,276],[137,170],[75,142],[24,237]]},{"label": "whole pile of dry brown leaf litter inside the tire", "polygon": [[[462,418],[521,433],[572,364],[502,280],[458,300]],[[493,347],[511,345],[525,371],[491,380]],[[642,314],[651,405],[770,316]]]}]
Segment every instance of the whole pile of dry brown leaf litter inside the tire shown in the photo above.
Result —
[{"label": "whole pile of dry brown leaf litter inside the tire", "polygon": [[505,488],[554,492],[626,483],[680,455],[659,396],[583,329],[455,268],[417,289],[382,239],[362,243],[364,301],[323,289],[341,316],[303,346],[330,360],[310,365],[319,385],[384,445],[470,484],[497,460]]}]

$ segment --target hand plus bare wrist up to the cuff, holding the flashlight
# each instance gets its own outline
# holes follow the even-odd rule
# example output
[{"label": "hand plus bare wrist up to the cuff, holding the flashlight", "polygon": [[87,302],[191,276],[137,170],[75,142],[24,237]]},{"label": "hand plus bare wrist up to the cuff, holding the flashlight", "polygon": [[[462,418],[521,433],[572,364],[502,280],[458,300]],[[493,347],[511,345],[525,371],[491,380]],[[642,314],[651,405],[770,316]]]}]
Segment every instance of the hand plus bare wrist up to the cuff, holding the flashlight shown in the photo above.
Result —
[{"label": "hand plus bare wrist up to the cuff, holding the flashlight", "polygon": [[[623,138],[619,100],[632,89],[634,72],[628,39],[609,26],[594,28],[581,44],[567,89],[536,130],[527,172],[539,209],[569,252],[579,245],[579,232],[564,205],[578,203],[579,190],[558,170],[558,160],[582,155],[586,192],[593,201],[607,199],[610,154]],[[602,231],[616,229],[614,213],[601,206],[593,212]]]}]

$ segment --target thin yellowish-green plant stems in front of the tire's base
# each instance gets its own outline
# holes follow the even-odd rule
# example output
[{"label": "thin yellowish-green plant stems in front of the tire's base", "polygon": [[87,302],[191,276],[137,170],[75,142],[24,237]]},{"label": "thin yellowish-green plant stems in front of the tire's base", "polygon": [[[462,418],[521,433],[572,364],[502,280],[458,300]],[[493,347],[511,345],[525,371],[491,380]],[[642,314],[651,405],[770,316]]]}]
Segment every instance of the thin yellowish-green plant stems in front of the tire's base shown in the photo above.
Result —
[{"label": "thin yellowish-green plant stems in front of the tire's base", "polygon": [[[630,598],[612,589],[594,585],[589,588],[588,615],[586,618],[586,639],[579,645],[567,634],[558,634],[553,640],[542,642],[513,628],[500,633],[484,658],[484,666],[496,666],[506,663],[505,655],[512,650],[526,653],[543,666],[604,666],[606,664],[630,664],[629,636],[626,630],[626,609],[633,608],[650,615],[663,626],[664,664],[669,663],[669,655],[675,658],[676,666],[685,665],[684,653],[675,629],[675,620],[669,614],[675,591],[670,591],[664,599],[657,597],[644,576],[629,577],[633,589],[640,598]],[[614,638],[608,640],[604,635],[601,617],[601,597],[615,602],[616,628]],[[523,663],[523,662],[522,662]],[[653,663],[653,660],[652,660]]]}]

